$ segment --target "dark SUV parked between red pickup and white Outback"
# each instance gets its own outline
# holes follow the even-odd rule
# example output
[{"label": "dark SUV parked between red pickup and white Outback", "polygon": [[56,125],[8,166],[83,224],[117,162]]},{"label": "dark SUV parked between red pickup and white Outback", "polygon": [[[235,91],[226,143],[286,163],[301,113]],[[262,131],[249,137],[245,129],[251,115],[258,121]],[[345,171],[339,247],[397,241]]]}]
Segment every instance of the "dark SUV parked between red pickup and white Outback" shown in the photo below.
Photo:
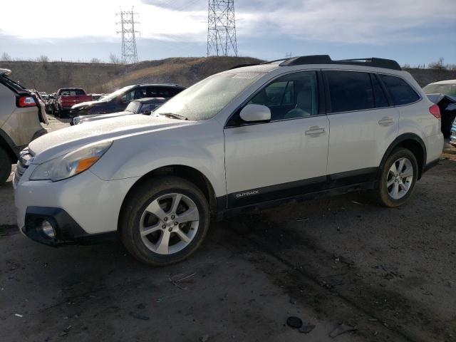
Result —
[{"label": "dark SUV parked between red pickup and white Outback", "polygon": [[139,98],[172,98],[185,87],[177,84],[137,84],[126,86],[107,95],[103,100],[73,105],[70,116],[116,113],[127,108],[132,100]]}]

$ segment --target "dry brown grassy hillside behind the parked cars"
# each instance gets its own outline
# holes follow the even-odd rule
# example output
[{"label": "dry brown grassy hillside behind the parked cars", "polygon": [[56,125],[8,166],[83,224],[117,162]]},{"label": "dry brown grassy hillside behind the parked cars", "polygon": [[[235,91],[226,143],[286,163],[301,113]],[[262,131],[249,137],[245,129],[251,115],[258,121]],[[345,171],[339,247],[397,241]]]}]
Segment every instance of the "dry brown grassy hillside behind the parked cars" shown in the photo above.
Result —
[{"label": "dry brown grassy hillside behind the parked cars", "polygon": [[[11,69],[11,78],[27,88],[52,93],[58,88],[81,87],[89,93],[110,93],[135,83],[178,83],[191,86],[209,75],[244,63],[258,63],[249,57],[189,57],[143,61],[130,66],[108,63],[69,63],[0,61],[0,68]],[[456,79],[456,71],[407,69],[425,86],[445,79]]]}]

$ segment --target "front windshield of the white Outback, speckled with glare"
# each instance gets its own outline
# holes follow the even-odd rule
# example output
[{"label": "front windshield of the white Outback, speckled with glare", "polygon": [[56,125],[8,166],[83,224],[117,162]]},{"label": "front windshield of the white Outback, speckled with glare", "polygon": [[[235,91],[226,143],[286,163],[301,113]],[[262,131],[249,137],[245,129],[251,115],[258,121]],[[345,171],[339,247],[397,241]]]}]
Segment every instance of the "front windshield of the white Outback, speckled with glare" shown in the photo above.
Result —
[{"label": "front windshield of the white Outback, speckled with glare", "polygon": [[262,75],[263,73],[233,71],[210,76],[175,95],[154,113],[172,113],[196,121],[213,118]]}]

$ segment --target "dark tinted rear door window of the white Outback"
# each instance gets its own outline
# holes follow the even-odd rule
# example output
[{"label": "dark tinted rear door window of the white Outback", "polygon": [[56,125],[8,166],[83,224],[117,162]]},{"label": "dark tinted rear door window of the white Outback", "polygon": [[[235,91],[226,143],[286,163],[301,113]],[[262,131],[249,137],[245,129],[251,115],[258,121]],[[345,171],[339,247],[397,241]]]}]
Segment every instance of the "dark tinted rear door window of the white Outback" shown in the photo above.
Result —
[{"label": "dark tinted rear door window of the white Outback", "polygon": [[325,71],[332,113],[374,108],[371,78],[356,71]]}]

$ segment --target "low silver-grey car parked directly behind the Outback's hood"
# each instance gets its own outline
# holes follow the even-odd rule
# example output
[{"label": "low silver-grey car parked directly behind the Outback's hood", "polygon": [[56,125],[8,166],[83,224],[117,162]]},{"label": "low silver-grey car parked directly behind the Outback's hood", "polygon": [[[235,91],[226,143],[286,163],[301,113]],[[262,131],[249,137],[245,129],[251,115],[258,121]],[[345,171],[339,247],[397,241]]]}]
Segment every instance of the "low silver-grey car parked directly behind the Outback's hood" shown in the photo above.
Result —
[{"label": "low silver-grey car parked directly behind the Outback's hood", "polygon": [[81,123],[90,123],[109,118],[117,118],[118,116],[131,115],[131,114],[146,114],[149,115],[153,110],[160,107],[165,103],[167,98],[140,98],[139,100],[131,101],[127,108],[122,112],[110,114],[94,114],[85,116],[76,116],[71,120],[71,125],[79,125]]}]

